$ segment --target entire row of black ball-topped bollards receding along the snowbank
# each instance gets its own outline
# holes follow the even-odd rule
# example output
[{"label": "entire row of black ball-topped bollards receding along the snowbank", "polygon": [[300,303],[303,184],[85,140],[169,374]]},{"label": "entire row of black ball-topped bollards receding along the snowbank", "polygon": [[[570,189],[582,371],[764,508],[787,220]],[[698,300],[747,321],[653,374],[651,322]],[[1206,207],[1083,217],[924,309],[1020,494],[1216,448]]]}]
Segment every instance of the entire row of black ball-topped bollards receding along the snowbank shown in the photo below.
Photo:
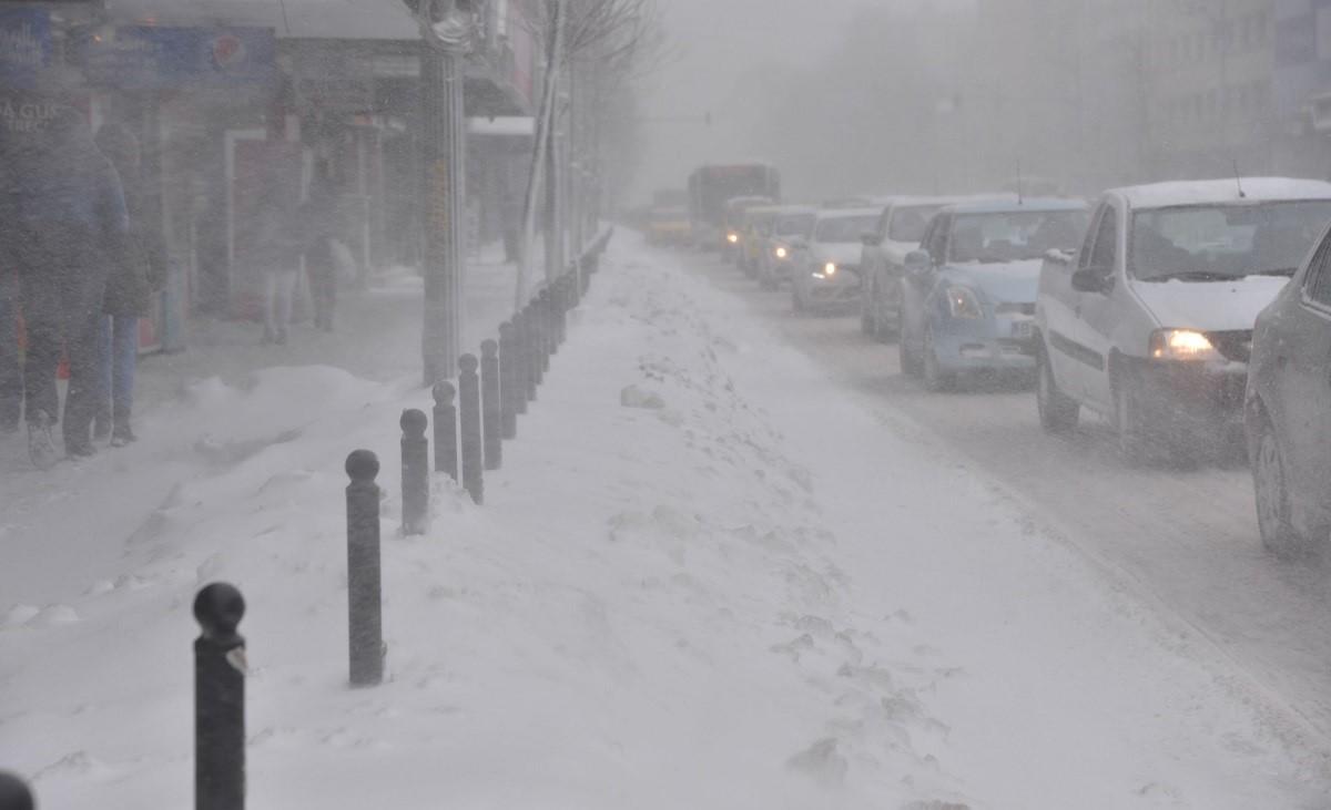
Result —
[{"label": "entire row of black ball-topped bollards receding along the snowbank", "polygon": [[[575,267],[551,282],[499,327],[498,340],[480,344],[480,358],[463,355],[457,386],[434,386],[434,471],[484,499],[484,470],[503,464],[503,442],[518,435],[518,416],[536,399],[550,358],[568,335],[578,306],[610,241],[602,234]],[[402,531],[419,535],[430,520],[429,418],[402,412]],[[379,559],[378,458],[357,450],[346,459],[347,650],[350,684],[383,681],[385,645]],[[194,597],[201,632],[194,640],[194,809],[245,807],[245,638],[237,632],[245,599],[226,583]],[[0,771],[0,810],[35,810],[31,789]]]}]

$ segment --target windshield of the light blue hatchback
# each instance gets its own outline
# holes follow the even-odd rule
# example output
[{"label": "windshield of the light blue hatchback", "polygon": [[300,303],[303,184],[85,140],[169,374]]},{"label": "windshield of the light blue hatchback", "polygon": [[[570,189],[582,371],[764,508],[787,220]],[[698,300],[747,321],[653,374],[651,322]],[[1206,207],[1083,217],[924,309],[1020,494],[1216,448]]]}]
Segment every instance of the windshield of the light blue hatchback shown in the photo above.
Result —
[{"label": "windshield of the light blue hatchback", "polygon": [[1074,250],[1086,231],[1081,210],[961,214],[952,226],[953,262],[1018,262],[1050,249]]}]

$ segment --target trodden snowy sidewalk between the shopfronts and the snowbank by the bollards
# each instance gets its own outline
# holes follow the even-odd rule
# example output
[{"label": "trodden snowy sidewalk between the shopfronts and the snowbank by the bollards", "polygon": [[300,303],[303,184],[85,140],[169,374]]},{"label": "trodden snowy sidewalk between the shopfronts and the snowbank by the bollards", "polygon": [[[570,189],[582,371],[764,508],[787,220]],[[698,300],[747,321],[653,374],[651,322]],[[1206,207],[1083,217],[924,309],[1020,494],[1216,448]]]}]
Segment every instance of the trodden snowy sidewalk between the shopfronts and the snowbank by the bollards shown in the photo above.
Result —
[{"label": "trodden snowy sidewalk between the shopfronts and the snowbank by the bollards", "polygon": [[[515,267],[494,251],[473,263],[467,278],[469,351],[479,351],[480,340],[495,337],[499,322],[511,313],[514,277]],[[317,366],[410,387],[421,375],[421,278],[397,269],[377,277],[369,290],[341,291],[337,331],[326,334],[298,323],[286,346],[262,346],[257,323],[196,318],[186,351],[140,362],[137,444],[44,472],[32,467],[23,435],[0,438],[0,547],[8,559],[24,560],[23,567],[0,567],[0,608],[7,601],[68,599],[89,581],[112,576],[122,544],[142,529],[142,521],[174,485],[196,475],[214,475],[257,450],[245,443],[222,447],[234,423],[261,426],[274,412],[286,419],[323,407],[319,387],[302,390],[298,384],[280,403],[237,402],[245,412],[198,412],[192,419],[188,410],[181,411],[182,403],[196,400],[204,390],[246,390],[260,379],[282,376],[284,368],[307,371]],[[303,372],[294,374],[299,379]],[[178,418],[169,416],[177,412]],[[285,427],[246,442],[281,440],[299,430],[285,420],[281,424]]]}]

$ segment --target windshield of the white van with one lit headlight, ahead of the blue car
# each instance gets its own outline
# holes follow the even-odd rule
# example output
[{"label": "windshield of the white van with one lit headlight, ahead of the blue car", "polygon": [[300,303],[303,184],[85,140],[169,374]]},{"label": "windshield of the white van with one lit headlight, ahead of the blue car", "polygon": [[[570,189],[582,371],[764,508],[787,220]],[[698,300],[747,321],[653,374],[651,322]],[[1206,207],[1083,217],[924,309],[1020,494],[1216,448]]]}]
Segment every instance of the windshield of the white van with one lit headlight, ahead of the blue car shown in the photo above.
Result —
[{"label": "windshield of the white van with one lit headlight, ahead of the blue car", "polygon": [[1137,211],[1130,270],[1142,281],[1292,275],[1328,221],[1328,200]]}]

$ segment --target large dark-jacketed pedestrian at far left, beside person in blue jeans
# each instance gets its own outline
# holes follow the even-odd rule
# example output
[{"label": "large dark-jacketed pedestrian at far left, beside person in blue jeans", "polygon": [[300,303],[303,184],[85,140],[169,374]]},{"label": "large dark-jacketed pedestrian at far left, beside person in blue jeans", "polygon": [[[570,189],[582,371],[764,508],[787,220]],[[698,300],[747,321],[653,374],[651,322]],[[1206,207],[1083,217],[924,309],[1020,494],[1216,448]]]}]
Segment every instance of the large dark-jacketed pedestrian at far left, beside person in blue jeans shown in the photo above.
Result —
[{"label": "large dark-jacketed pedestrian at far left, beside person in blue jeans", "polygon": [[[52,424],[65,452],[88,456],[97,410],[97,335],[106,267],[120,261],[129,217],[120,177],[98,150],[83,114],[49,106],[40,132],[4,132],[0,241],[19,271],[27,325],[24,418],[39,467],[56,460]],[[69,388],[64,412],[56,368],[64,348]]]}]

